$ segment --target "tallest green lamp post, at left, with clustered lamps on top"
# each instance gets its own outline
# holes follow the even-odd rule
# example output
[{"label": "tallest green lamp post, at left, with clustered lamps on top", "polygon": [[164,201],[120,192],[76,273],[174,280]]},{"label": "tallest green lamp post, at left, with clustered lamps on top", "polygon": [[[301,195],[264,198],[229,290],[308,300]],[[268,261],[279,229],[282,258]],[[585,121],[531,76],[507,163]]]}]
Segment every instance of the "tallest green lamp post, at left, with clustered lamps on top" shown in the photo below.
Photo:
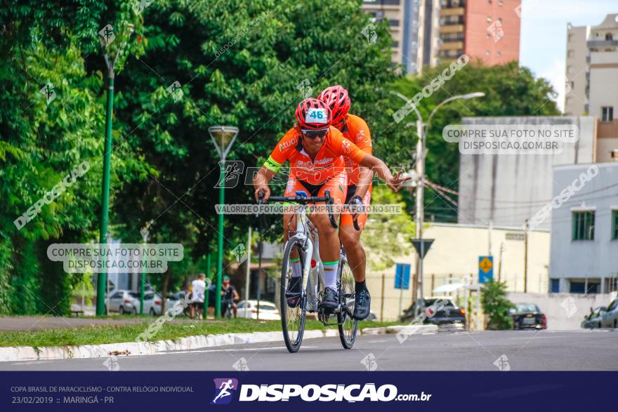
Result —
[{"label": "tallest green lamp post, at left, with clustered lamps on top", "polygon": [[[133,25],[126,25],[129,36],[133,33]],[[99,40],[102,46],[108,45],[107,36],[112,33],[100,34]],[[112,167],[112,112],[114,110],[114,67],[121,51],[126,46],[124,41],[113,56],[105,53],[105,65],[107,66],[107,104],[105,105],[105,153],[103,157],[103,187],[101,190],[101,226],[99,242],[107,243],[107,215],[110,208],[110,170]],[[97,300],[96,314],[105,314],[105,291],[107,289],[107,272],[103,271],[97,276]]]}]

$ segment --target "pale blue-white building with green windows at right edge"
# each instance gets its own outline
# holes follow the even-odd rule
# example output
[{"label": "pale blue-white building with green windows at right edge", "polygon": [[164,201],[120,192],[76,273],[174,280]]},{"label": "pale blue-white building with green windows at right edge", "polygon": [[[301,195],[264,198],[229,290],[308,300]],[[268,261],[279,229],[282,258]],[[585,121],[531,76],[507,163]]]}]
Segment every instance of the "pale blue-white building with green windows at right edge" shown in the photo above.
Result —
[{"label": "pale blue-white building with green windows at right edge", "polygon": [[618,163],[557,166],[553,197],[550,290],[617,290]]}]

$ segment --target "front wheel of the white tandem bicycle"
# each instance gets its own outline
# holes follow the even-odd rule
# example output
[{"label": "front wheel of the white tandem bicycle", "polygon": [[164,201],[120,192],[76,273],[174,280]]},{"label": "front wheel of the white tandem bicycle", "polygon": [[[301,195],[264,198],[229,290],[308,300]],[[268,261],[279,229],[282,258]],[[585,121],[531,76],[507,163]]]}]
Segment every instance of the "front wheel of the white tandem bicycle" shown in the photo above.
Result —
[{"label": "front wheel of the white tandem bicycle", "polygon": [[303,295],[296,307],[290,307],[285,297],[285,291],[290,283],[292,276],[292,265],[290,255],[296,252],[301,258],[301,267],[305,266],[305,257],[301,249],[299,241],[288,241],[283,253],[283,265],[281,268],[281,293],[280,293],[280,310],[281,310],[281,326],[283,330],[283,339],[289,352],[298,352],[303,342],[303,333],[305,332],[305,317],[307,297]]}]

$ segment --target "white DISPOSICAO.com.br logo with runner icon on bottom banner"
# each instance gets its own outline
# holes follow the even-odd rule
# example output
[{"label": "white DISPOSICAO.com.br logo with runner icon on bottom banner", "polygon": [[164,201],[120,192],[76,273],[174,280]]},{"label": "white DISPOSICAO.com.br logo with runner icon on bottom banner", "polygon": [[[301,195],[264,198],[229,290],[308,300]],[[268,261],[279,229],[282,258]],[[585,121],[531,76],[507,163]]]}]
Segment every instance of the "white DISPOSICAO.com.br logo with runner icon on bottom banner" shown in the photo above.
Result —
[{"label": "white DISPOSICAO.com.br logo with runner icon on bottom banner", "polygon": [[[230,390],[237,390],[238,381],[232,378],[215,379],[215,397],[211,404],[228,404],[232,400]],[[239,401],[289,401],[291,398],[306,402],[313,401],[429,401],[431,394],[397,394],[395,385],[381,385],[374,383],[364,385],[241,385]]]}]

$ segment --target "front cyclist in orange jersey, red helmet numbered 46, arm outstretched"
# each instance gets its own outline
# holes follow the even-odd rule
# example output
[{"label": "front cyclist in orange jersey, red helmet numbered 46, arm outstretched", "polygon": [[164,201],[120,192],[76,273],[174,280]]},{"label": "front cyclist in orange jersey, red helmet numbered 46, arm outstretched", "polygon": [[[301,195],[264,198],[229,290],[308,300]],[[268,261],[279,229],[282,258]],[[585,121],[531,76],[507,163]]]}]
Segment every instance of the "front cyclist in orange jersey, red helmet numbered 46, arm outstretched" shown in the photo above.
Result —
[{"label": "front cyclist in orange jersey, red helmet numbered 46, arm outstretched", "polygon": [[[324,196],[330,191],[335,204],[343,204],[348,189],[343,157],[375,171],[391,189],[397,191],[406,179],[400,174],[393,176],[388,166],[367,152],[359,149],[353,142],[331,127],[332,114],[328,105],[321,100],[308,98],[296,107],[296,124],[283,138],[260,168],[254,178],[256,200],[261,194],[264,201],[270,197],[268,182],[277,174],[285,161],[291,168],[284,196],[295,196],[304,191],[310,196]],[[334,212],[338,220],[337,211]],[[294,214],[284,215],[284,228],[288,227]],[[322,305],[334,309],[338,305],[336,277],[338,269],[339,239],[336,229],[331,226],[327,214],[312,213],[310,219],[320,233],[320,258],[324,266],[324,299]],[[284,239],[287,241],[287,230]],[[286,291],[289,306],[298,305],[301,296],[301,263],[298,256],[292,258],[292,278]],[[296,260],[294,260],[296,259]],[[296,280],[295,280],[296,279]]]}]

